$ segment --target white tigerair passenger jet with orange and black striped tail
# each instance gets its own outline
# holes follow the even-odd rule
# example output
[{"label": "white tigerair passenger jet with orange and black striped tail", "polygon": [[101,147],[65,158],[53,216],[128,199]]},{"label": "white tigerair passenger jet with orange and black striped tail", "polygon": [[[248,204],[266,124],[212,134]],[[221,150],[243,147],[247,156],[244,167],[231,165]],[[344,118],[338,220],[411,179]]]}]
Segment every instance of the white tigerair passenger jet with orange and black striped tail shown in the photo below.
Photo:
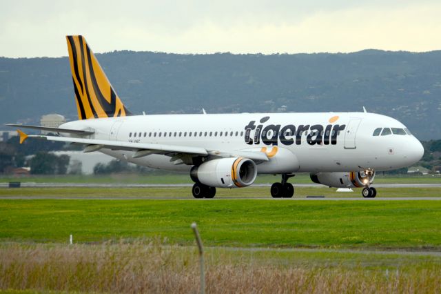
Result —
[{"label": "white tigerair passenger jet with orange and black striped tail", "polygon": [[[360,187],[375,197],[376,171],[410,166],[424,149],[400,121],[365,112],[132,115],[82,36],[68,36],[79,120],[27,137],[83,144],[123,161],[163,170],[186,170],[196,198],[216,188],[252,185],[258,174],[280,174],[272,197],[292,197],[296,173],[329,187]],[[205,111],[204,111],[205,112]]]}]

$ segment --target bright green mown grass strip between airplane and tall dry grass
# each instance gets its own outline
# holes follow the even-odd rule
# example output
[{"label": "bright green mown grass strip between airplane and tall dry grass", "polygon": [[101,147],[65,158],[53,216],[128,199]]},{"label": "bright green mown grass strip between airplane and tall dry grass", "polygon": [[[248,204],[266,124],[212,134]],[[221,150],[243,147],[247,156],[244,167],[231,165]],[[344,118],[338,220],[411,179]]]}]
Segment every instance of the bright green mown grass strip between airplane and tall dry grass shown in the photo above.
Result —
[{"label": "bright green mown grass strip between airplane and tall dry grass", "polygon": [[167,237],[210,246],[441,248],[441,201],[0,199],[0,241]]}]

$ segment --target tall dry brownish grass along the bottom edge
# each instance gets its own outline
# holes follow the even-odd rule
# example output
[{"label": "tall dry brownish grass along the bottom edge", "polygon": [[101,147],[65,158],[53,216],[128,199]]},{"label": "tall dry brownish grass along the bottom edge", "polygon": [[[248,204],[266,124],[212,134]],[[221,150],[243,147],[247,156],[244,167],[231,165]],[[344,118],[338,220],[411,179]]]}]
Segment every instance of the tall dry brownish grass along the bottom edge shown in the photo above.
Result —
[{"label": "tall dry brownish grass along the bottom edge", "polygon": [[[386,273],[362,266],[280,264],[208,251],[207,293],[440,293],[441,265]],[[251,256],[251,257],[250,257]],[[196,249],[164,242],[0,245],[0,289],[197,293]]]}]

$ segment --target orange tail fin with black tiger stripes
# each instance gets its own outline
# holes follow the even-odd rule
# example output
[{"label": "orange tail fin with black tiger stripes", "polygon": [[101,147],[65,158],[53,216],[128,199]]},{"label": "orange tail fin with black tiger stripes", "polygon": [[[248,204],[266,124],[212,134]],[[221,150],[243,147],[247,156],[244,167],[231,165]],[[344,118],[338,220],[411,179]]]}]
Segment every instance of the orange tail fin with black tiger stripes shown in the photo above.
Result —
[{"label": "orange tail fin with black tiger stripes", "polygon": [[116,95],[85,38],[66,39],[79,119],[132,115]]}]

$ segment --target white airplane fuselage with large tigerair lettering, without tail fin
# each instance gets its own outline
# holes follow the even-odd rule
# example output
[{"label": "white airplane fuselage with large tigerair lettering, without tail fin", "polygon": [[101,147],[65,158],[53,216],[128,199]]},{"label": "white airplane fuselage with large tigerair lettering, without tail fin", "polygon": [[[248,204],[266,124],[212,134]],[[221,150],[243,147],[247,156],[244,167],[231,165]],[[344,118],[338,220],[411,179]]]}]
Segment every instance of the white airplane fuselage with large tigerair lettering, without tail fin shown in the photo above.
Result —
[{"label": "white airplane fuselage with large tigerair lettering, without tail fin", "polygon": [[[400,121],[367,112],[136,115],[71,121],[60,127],[92,128],[90,139],[194,146],[214,153],[264,151],[269,161],[257,164],[260,174],[393,170],[413,164],[423,152]],[[374,136],[378,128],[400,131]],[[130,150],[100,151],[151,168],[191,168],[166,155],[133,158]]]}]

